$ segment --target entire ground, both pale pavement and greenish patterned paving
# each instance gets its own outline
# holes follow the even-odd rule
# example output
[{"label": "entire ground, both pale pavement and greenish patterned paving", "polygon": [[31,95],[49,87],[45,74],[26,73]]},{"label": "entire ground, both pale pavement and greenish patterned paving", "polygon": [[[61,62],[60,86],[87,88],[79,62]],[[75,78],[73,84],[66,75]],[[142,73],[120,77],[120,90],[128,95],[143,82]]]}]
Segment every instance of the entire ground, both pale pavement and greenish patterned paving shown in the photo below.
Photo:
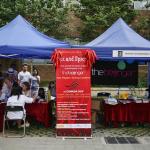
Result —
[{"label": "entire ground, both pale pavement and greenish patterned paving", "polygon": [[[12,134],[20,133],[14,130]],[[10,133],[10,132],[9,132]],[[108,144],[106,137],[133,137],[139,144]],[[24,138],[4,138],[0,133],[0,150],[149,150],[150,125],[105,128],[93,127],[92,139],[65,139],[55,137],[55,129],[32,125]]]}]

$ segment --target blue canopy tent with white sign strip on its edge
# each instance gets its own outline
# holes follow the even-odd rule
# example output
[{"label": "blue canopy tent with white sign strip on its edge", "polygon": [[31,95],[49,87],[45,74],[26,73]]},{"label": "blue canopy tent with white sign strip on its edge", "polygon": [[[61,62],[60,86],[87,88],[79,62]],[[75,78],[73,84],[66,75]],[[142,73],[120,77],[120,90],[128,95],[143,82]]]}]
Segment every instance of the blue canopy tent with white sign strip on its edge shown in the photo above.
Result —
[{"label": "blue canopy tent with white sign strip on its edge", "polygon": [[121,18],[93,41],[75,47],[91,48],[101,60],[150,60],[150,42]]}]

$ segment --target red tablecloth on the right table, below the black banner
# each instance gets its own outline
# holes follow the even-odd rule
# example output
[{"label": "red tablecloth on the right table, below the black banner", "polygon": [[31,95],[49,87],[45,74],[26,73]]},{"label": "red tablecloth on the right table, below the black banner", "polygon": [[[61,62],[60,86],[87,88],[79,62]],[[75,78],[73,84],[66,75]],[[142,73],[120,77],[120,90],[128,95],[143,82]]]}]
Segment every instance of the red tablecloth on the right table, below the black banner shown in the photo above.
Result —
[{"label": "red tablecloth on the right table, below the black banner", "polygon": [[104,103],[104,119],[108,124],[118,123],[150,123],[150,103],[127,103],[109,105]]}]

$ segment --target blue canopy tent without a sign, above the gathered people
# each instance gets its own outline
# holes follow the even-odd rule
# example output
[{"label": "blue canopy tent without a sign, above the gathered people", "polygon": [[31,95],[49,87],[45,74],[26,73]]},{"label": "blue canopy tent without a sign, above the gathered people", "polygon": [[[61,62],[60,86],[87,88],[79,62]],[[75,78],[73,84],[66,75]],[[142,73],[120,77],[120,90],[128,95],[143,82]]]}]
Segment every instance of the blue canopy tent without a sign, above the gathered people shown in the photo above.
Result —
[{"label": "blue canopy tent without a sign, above the gathered people", "polygon": [[49,59],[55,48],[68,47],[40,33],[20,15],[0,28],[0,57]]}]

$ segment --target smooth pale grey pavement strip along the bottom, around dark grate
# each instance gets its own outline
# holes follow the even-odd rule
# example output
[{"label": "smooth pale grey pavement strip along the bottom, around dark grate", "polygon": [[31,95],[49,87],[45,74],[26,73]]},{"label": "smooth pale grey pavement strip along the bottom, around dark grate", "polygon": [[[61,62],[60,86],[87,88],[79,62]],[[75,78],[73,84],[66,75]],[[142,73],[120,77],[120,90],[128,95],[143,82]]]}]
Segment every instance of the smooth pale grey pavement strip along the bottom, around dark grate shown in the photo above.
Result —
[{"label": "smooth pale grey pavement strip along the bottom, around dark grate", "polygon": [[93,139],[56,139],[54,137],[0,138],[0,150],[149,150],[150,138],[142,144],[106,144],[103,137]]}]

